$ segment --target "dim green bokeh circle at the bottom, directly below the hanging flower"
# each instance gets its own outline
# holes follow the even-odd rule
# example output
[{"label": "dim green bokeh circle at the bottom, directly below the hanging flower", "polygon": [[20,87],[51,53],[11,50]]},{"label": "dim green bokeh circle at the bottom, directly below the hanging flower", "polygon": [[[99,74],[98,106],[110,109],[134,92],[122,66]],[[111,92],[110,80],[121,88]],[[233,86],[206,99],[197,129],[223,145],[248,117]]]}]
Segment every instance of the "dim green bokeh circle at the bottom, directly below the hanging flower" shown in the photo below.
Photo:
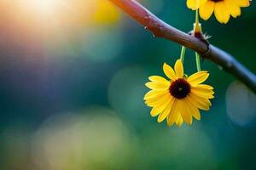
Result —
[{"label": "dim green bokeh circle at the bottom, directly below the hanging flower", "polygon": [[[142,140],[148,162],[158,162],[150,169],[216,169],[217,156],[212,139],[200,127],[147,129]],[[165,164],[168,162],[168,164]]]}]

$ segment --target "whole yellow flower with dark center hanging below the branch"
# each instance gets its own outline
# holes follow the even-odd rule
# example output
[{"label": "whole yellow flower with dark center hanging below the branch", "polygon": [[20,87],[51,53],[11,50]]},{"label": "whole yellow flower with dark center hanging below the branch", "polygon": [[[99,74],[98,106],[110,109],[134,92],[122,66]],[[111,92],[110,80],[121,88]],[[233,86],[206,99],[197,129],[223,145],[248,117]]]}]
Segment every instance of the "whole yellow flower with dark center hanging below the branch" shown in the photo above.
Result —
[{"label": "whole yellow flower with dark center hanging below the branch", "polygon": [[158,122],[165,119],[168,126],[175,122],[180,127],[183,122],[192,124],[193,116],[201,120],[200,110],[208,111],[212,105],[209,99],[213,97],[213,88],[206,84],[201,84],[207,80],[209,73],[199,71],[190,77],[183,73],[181,59],[177,59],[174,70],[166,63],[163,70],[168,81],[164,77],[152,76],[148,79],[146,86],[151,90],[145,94],[145,103],[152,107],[151,116],[158,116]]}]

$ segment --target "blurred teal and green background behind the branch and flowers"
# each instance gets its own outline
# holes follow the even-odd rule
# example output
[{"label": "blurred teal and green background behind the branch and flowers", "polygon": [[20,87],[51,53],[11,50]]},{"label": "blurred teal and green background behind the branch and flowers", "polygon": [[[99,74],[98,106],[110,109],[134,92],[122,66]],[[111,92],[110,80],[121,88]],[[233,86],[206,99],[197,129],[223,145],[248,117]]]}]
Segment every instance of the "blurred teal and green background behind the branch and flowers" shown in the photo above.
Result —
[{"label": "blurred teal and green background behind the branch and flowers", "polygon": [[[234,77],[205,60],[211,111],[191,127],[167,127],[150,117],[144,83],[164,76],[180,46],[105,0],[42,1],[0,3],[1,170],[256,169],[256,97]],[[140,2],[191,30],[185,0]],[[227,25],[212,17],[202,26],[255,73],[255,20],[252,2]],[[195,72],[192,51],[184,65]]]}]

